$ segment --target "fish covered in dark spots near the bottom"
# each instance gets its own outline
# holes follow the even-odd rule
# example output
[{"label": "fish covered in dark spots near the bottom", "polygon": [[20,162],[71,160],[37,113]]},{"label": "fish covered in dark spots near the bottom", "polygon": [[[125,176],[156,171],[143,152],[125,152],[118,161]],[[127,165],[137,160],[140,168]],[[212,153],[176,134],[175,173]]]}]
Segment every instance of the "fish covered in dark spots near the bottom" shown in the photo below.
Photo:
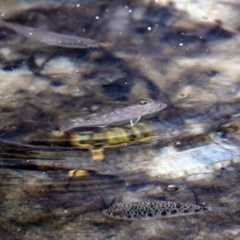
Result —
[{"label": "fish covered in dark spots near the bottom", "polygon": [[191,203],[136,201],[114,203],[103,214],[115,219],[138,220],[184,216],[204,211],[208,211],[208,208]]}]

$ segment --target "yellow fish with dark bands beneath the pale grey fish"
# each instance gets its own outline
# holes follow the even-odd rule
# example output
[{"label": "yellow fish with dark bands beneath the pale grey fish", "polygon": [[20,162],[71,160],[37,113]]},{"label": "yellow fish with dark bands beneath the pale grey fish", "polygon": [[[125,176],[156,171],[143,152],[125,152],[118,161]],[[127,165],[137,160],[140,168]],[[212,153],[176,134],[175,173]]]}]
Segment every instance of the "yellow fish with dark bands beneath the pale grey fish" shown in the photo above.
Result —
[{"label": "yellow fish with dark bands beneath the pale grey fish", "polygon": [[107,129],[97,128],[94,131],[74,130],[62,134],[56,131],[53,132],[52,137],[51,144],[88,149],[91,152],[92,160],[100,161],[105,158],[105,148],[121,146],[127,143],[146,142],[153,139],[155,135],[146,123],[137,123],[132,127],[126,125]]}]

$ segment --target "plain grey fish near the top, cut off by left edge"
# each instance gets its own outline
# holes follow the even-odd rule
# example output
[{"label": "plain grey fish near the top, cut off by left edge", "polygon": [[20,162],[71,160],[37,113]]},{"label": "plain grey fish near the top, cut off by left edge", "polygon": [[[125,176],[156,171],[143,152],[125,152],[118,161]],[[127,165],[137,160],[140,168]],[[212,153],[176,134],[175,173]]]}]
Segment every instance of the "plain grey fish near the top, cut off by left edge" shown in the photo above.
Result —
[{"label": "plain grey fish near the top, cut off by left edge", "polygon": [[63,48],[98,48],[108,46],[110,43],[98,42],[93,39],[71,36],[61,33],[43,31],[38,28],[26,27],[19,24],[0,20],[0,27],[11,29],[18,34],[38,41],[40,43]]}]

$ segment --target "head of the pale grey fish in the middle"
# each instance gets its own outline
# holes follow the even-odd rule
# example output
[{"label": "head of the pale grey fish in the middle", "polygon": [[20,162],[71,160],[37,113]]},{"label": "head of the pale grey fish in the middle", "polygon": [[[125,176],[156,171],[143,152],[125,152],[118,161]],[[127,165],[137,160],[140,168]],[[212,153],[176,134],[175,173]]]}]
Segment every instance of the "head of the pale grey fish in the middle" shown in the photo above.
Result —
[{"label": "head of the pale grey fish in the middle", "polygon": [[142,116],[156,113],[167,107],[167,104],[157,101],[157,100],[141,100],[138,102],[139,108],[142,109]]}]

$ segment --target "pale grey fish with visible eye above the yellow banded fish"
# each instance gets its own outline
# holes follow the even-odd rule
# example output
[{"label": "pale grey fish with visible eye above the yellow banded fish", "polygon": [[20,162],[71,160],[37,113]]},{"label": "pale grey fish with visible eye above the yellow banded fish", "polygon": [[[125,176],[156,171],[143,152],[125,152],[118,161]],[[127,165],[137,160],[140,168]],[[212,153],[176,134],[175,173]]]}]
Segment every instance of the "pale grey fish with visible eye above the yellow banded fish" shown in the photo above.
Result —
[{"label": "pale grey fish with visible eye above the yellow banded fish", "polygon": [[113,123],[130,121],[131,126],[139,122],[141,117],[157,113],[167,107],[167,104],[156,100],[141,100],[137,104],[116,109],[110,113],[93,117],[84,122],[65,121],[60,124],[60,132],[66,132],[81,127],[106,127]]}]

